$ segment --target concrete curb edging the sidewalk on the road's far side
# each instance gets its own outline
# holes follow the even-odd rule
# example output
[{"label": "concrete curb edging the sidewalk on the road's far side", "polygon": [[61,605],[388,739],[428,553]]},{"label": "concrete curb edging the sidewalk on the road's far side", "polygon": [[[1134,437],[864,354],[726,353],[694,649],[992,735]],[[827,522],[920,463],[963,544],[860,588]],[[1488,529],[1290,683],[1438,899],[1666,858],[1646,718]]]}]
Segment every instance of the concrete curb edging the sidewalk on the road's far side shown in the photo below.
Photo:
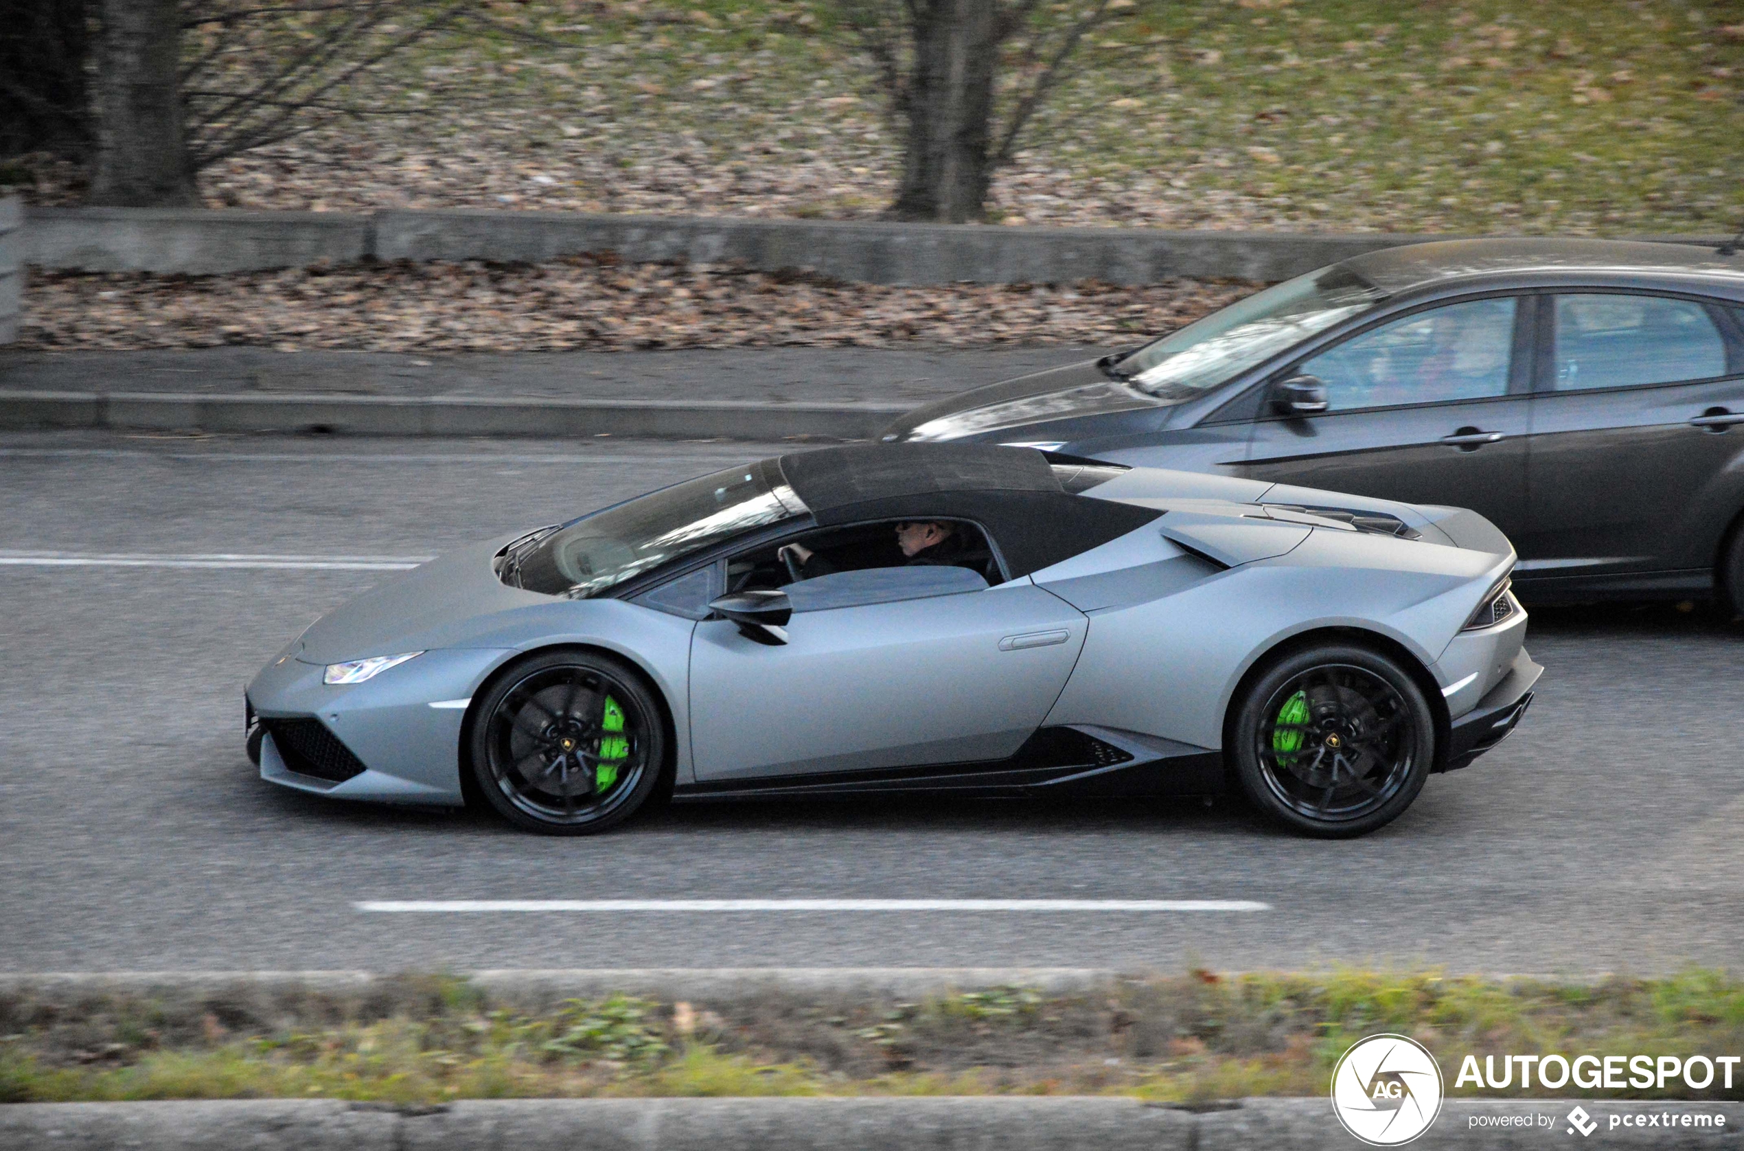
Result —
[{"label": "concrete curb edging the sidewalk on the road's far side", "polygon": [[909,405],[0,391],[0,429],[869,439]]}]

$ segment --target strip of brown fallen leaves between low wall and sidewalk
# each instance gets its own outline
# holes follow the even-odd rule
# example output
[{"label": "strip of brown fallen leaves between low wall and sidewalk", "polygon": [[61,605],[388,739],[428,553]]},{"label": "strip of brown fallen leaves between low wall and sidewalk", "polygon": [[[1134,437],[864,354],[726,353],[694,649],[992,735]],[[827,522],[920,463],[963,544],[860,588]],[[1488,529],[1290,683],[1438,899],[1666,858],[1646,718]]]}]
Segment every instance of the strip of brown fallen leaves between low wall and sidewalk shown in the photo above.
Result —
[{"label": "strip of brown fallen leaves between low wall and sidewalk", "polygon": [[1243,281],[884,288],[732,267],[377,263],[230,276],[37,272],[37,351],[539,352],[675,347],[1137,344],[1247,295]]}]

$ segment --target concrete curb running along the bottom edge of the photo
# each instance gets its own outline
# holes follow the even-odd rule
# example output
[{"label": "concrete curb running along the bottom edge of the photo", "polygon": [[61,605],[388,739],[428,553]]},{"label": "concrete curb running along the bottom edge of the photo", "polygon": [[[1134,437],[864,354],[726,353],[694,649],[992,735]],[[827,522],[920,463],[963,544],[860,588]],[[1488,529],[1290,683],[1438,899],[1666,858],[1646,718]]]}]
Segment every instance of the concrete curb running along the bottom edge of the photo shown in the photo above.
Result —
[{"label": "concrete curb running along the bottom edge of the photo", "polygon": [[[1604,1146],[1728,1148],[1741,1104],[1578,1100]],[[1448,1100],[1414,1148],[1502,1151],[1563,1139],[1577,1100]],[[1245,1099],[1191,1113],[1114,1097],[909,1099],[532,1099],[441,1107],[340,1100],[14,1104],[0,1149],[59,1151],[1223,1151],[1357,1146],[1325,1099]],[[1610,1114],[1727,1116],[1714,1128],[1617,1128]],[[1472,1116],[1531,1116],[1533,1127],[1472,1127]],[[1549,1120],[1545,1123],[1543,1120]],[[1720,1134],[1720,1132],[1725,1134]],[[1732,1141],[1727,1135],[1734,1135]]]}]

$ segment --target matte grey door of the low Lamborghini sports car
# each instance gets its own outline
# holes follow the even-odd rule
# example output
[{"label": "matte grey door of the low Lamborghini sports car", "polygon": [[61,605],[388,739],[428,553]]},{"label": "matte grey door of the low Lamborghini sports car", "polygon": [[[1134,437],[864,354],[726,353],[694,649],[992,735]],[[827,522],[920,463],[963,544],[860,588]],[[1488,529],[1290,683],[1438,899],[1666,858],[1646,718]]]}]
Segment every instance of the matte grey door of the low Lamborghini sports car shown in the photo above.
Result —
[{"label": "matte grey door of the low Lamborghini sports car", "polygon": [[785,644],[748,638],[726,619],[699,623],[691,637],[698,781],[999,760],[1017,752],[1066,687],[1087,617],[1027,577],[889,598],[900,582],[900,576],[884,581],[882,596],[874,596],[881,602],[821,610],[799,610],[795,596]]}]

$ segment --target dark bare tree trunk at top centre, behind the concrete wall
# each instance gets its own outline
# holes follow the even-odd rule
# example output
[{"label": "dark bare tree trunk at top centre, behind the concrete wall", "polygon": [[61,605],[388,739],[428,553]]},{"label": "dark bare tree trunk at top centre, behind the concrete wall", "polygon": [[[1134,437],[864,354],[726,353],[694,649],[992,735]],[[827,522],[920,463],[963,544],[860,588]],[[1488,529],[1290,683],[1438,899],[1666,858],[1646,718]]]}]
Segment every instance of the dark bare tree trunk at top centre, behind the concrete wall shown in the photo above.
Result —
[{"label": "dark bare tree trunk at top centre, behind the concrete wall", "polygon": [[980,220],[999,52],[996,0],[914,0],[914,75],[898,220]]}]

